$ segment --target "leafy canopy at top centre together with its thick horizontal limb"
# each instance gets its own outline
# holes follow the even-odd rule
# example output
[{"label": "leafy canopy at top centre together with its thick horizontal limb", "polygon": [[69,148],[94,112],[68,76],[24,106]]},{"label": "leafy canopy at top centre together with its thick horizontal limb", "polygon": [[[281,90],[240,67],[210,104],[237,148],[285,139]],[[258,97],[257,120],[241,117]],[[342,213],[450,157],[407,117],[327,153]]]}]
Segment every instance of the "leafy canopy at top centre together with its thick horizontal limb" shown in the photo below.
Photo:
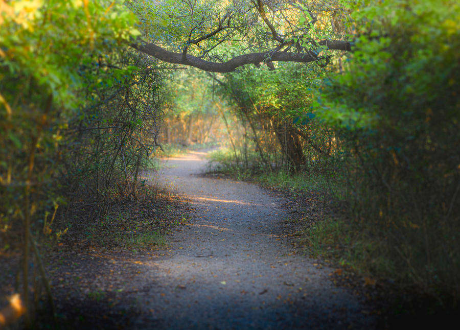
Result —
[{"label": "leafy canopy at top centre together with its thick horizontal limb", "polygon": [[[329,61],[350,50],[341,23],[349,10],[330,1],[131,1],[144,42],[136,49],[160,60],[212,72],[272,61]],[[330,15],[330,13],[333,13]],[[336,39],[339,38],[339,39]]]}]

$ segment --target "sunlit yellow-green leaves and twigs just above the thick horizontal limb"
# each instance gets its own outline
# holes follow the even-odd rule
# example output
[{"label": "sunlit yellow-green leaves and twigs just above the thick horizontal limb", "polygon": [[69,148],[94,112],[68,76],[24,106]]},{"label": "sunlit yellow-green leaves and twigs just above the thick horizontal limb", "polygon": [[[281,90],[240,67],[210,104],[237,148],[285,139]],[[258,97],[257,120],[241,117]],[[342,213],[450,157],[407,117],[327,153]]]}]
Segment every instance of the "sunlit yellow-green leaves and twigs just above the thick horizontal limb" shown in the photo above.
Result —
[{"label": "sunlit yellow-green leaves and twigs just above the thick horizontal limb", "polygon": [[[239,0],[151,2],[134,0],[129,7],[141,21],[146,41],[176,53],[227,61],[250,50],[266,52],[277,48],[289,51],[305,47],[324,59],[325,46],[314,40],[340,34],[331,24],[347,14],[339,1],[263,2]],[[262,14],[260,10],[265,13]],[[271,28],[262,16],[269,17]],[[277,38],[273,37],[277,31]],[[295,48],[294,48],[295,44]]]}]

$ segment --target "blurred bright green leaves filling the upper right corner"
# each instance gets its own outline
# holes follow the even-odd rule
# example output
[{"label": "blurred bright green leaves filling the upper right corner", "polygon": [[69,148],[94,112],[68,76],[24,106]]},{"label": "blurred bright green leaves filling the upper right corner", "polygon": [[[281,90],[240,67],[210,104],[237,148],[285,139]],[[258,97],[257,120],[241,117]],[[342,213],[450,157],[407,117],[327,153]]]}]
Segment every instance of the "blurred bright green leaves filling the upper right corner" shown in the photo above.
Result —
[{"label": "blurred bright green leaves filling the upper right corner", "polygon": [[317,104],[321,117],[347,129],[395,125],[395,132],[407,135],[425,129],[428,117],[455,120],[457,113],[443,107],[430,114],[441,96],[455,97],[458,87],[460,10],[456,2],[438,3],[390,1],[358,8],[352,16],[361,33],[356,51],[343,75],[324,82]]}]

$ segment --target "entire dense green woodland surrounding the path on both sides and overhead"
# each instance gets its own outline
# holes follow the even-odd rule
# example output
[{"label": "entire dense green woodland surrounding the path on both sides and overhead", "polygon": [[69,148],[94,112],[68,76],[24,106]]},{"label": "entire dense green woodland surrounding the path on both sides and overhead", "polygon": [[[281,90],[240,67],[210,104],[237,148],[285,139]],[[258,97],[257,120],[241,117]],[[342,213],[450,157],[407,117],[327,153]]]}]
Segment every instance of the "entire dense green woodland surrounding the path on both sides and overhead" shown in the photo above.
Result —
[{"label": "entire dense green woodland surrounding the path on both sides and overhead", "polygon": [[457,306],[459,21],[450,0],[0,1],[0,254],[26,322],[67,228],[186,147],[339,208],[307,253]]}]

